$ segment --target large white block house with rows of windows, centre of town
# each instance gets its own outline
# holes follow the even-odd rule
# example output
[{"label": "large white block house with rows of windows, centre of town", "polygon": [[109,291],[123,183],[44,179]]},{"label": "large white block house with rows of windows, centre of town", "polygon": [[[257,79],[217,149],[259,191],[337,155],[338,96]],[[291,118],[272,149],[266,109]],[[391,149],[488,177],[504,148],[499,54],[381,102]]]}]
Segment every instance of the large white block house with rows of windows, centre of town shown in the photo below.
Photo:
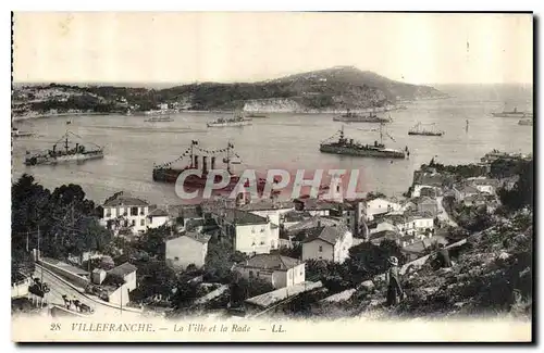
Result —
[{"label": "large white block house with rows of windows, centre of town", "polygon": [[233,237],[235,251],[263,254],[280,248],[279,226],[268,217],[236,209],[219,211],[212,217],[224,235]]}]

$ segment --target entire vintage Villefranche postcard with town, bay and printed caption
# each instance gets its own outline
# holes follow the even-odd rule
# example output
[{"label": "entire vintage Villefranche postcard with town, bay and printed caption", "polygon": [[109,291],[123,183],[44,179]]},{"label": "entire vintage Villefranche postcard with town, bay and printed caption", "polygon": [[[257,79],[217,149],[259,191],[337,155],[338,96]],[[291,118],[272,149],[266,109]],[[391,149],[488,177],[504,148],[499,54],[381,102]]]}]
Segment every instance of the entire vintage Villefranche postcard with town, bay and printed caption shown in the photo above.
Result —
[{"label": "entire vintage Villefranche postcard with town, bay and printed caption", "polygon": [[533,340],[531,13],[17,12],[12,40],[13,341]]}]

